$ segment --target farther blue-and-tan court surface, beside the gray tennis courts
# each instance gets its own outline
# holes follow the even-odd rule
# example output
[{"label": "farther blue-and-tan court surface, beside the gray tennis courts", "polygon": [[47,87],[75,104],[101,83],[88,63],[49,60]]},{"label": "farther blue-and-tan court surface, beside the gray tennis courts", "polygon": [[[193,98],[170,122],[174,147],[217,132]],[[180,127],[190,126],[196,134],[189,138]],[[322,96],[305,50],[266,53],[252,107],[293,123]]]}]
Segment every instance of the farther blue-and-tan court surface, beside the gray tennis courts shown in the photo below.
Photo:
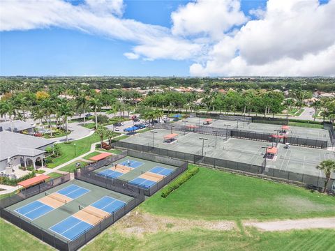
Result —
[{"label": "farther blue-and-tan court surface, beside the gray tennis courts", "polygon": [[119,178],[144,189],[151,188],[177,167],[127,156],[95,171],[97,176]]}]

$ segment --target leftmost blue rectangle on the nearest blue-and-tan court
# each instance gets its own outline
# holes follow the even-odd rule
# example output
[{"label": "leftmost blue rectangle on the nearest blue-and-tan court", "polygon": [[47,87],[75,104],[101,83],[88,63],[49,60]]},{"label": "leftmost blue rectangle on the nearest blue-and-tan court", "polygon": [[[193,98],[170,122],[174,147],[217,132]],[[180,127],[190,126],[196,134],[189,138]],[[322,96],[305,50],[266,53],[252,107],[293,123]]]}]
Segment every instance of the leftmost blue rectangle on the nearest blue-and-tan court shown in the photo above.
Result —
[{"label": "leftmost blue rectangle on the nearest blue-and-tan court", "polygon": [[45,215],[45,213],[49,213],[54,210],[51,206],[47,206],[40,201],[33,201],[25,206],[15,209],[16,213],[20,213],[24,217],[29,220],[35,220],[38,217]]}]

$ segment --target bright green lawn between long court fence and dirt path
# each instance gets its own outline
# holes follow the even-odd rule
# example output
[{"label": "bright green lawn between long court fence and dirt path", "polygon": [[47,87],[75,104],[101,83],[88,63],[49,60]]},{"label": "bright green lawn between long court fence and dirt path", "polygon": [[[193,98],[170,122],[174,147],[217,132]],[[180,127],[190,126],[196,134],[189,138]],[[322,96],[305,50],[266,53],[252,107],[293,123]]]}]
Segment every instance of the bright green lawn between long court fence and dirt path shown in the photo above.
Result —
[{"label": "bright green lawn between long court fence and dirt path", "polygon": [[204,220],[269,220],[335,215],[335,197],[292,185],[200,167],[172,192],[161,192],[140,205],[157,215]]}]

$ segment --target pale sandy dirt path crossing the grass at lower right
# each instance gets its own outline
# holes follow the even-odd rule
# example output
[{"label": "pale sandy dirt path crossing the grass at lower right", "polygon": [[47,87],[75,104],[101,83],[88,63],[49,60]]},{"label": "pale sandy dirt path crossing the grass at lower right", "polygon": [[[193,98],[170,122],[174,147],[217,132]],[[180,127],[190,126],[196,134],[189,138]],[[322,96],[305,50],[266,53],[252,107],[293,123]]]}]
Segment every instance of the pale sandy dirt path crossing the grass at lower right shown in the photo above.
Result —
[{"label": "pale sandy dirt path crossing the grass at lower right", "polygon": [[301,220],[277,220],[271,222],[245,222],[245,227],[263,231],[288,231],[292,229],[335,229],[335,218],[312,218]]}]

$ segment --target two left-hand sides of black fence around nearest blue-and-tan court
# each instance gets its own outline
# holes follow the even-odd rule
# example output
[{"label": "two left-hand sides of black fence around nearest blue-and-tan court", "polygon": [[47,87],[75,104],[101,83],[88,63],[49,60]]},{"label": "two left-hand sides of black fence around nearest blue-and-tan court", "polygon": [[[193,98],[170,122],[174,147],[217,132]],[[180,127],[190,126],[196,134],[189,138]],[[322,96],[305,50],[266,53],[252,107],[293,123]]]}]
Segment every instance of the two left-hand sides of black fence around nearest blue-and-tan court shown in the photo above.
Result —
[{"label": "two left-hand sides of black fence around nearest blue-and-tan court", "polygon": [[54,178],[51,181],[47,181],[45,183],[41,183],[40,185],[36,185],[32,188],[28,188],[26,190],[22,190],[21,192],[17,193],[16,195],[11,195],[9,197],[3,198],[0,200],[0,215],[1,218],[7,220],[8,222],[20,227],[24,231],[27,231],[29,234],[34,235],[35,237],[39,238],[41,241],[48,243],[54,248],[58,250],[69,250],[69,243],[61,240],[54,234],[50,234],[49,232],[45,231],[45,229],[40,228],[34,225],[33,222],[27,222],[23,218],[18,215],[14,215],[10,213],[10,211],[6,210],[6,207],[16,204],[24,199],[29,197],[33,197],[34,195],[38,195],[40,192],[44,192],[51,188],[56,187],[57,185],[61,185],[70,181],[70,174],[66,174],[59,178]]}]

